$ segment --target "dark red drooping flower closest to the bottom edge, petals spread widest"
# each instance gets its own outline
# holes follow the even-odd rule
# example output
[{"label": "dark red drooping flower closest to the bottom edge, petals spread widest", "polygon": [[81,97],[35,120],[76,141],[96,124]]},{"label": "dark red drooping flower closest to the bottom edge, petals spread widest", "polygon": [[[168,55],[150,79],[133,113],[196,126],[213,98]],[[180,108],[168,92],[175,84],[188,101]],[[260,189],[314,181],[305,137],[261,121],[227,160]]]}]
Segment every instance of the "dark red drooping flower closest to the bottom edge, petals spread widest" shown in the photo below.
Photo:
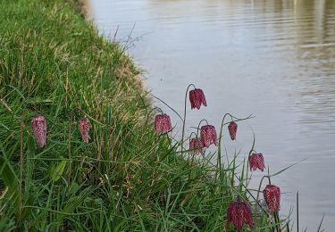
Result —
[{"label": "dark red drooping flower closest to the bottom edge, petals spread widest", "polygon": [[240,231],[244,223],[247,223],[250,228],[254,227],[254,220],[251,215],[250,206],[243,200],[236,200],[230,202],[227,212],[227,224],[226,228],[229,228],[230,222],[234,224],[234,227]]}]

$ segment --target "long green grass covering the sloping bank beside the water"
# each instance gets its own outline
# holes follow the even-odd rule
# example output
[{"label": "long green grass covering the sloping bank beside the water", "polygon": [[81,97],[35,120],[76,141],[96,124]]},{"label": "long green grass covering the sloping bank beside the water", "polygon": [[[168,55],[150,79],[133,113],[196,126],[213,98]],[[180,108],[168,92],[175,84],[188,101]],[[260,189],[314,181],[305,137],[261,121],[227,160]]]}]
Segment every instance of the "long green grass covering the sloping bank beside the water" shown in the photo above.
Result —
[{"label": "long green grass covering the sloping bank beside the water", "polygon": [[[0,231],[223,231],[230,201],[247,199],[235,159],[220,170],[208,153],[188,161],[158,136],[140,70],[75,2],[0,3]],[[257,220],[273,230],[264,213]]]}]

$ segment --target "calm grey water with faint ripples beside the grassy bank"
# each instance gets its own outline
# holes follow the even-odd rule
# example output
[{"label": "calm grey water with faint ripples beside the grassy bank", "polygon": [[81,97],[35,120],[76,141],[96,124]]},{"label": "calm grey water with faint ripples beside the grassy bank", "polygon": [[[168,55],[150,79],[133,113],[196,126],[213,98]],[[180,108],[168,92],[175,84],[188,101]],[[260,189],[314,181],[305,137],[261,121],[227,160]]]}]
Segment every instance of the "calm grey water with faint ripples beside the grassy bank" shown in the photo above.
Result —
[{"label": "calm grey water with faint ripples beside the grassy bank", "polygon": [[[188,111],[188,133],[203,118],[238,117],[230,157],[252,145],[281,186],[281,214],[299,191],[300,228],[335,228],[335,0],[91,0],[97,28],[129,46],[152,93],[182,113],[189,83],[208,106]],[[162,105],[162,104],[160,104]],[[166,107],[164,110],[173,114]],[[173,121],[178,117],[172,116]],[[174,134],[180,133],[180,124]],[[253,181],[261,174],[255,172]]]}]

